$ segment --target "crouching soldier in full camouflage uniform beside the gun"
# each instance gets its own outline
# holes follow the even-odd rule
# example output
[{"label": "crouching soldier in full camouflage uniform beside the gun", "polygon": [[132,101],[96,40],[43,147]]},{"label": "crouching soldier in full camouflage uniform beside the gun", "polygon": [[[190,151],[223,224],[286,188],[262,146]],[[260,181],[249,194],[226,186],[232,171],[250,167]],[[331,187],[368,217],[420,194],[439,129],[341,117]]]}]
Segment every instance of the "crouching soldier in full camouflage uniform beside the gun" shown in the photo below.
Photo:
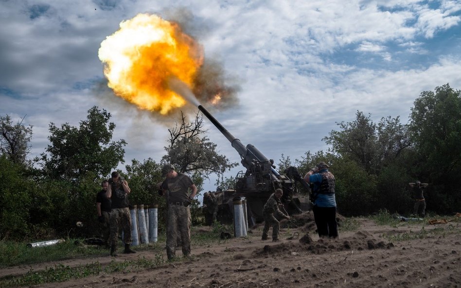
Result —
[{"label": "crouching soldier in full camouflage uniform beside the gun", "polygon": [[279,188],[275,190],[275,193],[270,195],[269,199],[264,205],[263,217],[264,217],[265,222],[264,222],[264,229],[263,229],[263,237],[261,237],[262,240],[267,240],[269,228],[272,226],[272,241],[273,242],[279,241],[280,224],[279,224],[279,220],[275,218],[274,214],[276,214],[279,217],[283,217],[285,219],[290,219],[288,215],[284,214],[284,212],[282,212],[279,209],[279,207],[281,207],[280,205],[283,205],[282,202],[280,201],[280,198],[282,198],[283,194],[284,194],[284,191],[282,189]]}]

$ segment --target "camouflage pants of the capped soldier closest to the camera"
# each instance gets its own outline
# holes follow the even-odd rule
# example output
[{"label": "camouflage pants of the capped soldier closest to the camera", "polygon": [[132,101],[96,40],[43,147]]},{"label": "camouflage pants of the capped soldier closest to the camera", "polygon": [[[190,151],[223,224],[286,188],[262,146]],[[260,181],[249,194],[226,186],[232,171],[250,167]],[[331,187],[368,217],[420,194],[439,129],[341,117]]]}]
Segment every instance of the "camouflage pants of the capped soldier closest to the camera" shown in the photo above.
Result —
[{"label": "camouflage pants of the capped soldier closest to the camera", "polygon": [[166,254],[168,259],[176,255],[177,235],[181,236],[181,249],[184,256],[191,254],[191,210],[182,205],[168,206],[166,225]]}]

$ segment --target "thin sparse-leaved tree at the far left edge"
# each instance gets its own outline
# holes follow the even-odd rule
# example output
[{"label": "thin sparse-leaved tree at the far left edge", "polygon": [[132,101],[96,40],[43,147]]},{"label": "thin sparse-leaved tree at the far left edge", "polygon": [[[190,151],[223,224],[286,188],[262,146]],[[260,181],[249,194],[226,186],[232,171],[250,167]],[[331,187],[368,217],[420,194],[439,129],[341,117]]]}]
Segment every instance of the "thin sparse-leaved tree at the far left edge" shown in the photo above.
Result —
[{"label": "thin sparse-leaved tree at the far left edge", "polygon": [[24,118],[13,124],[10,116],[0,116],[0,153],[18,164],[25,164],[31,148],[32,126],[22,124]]}]

